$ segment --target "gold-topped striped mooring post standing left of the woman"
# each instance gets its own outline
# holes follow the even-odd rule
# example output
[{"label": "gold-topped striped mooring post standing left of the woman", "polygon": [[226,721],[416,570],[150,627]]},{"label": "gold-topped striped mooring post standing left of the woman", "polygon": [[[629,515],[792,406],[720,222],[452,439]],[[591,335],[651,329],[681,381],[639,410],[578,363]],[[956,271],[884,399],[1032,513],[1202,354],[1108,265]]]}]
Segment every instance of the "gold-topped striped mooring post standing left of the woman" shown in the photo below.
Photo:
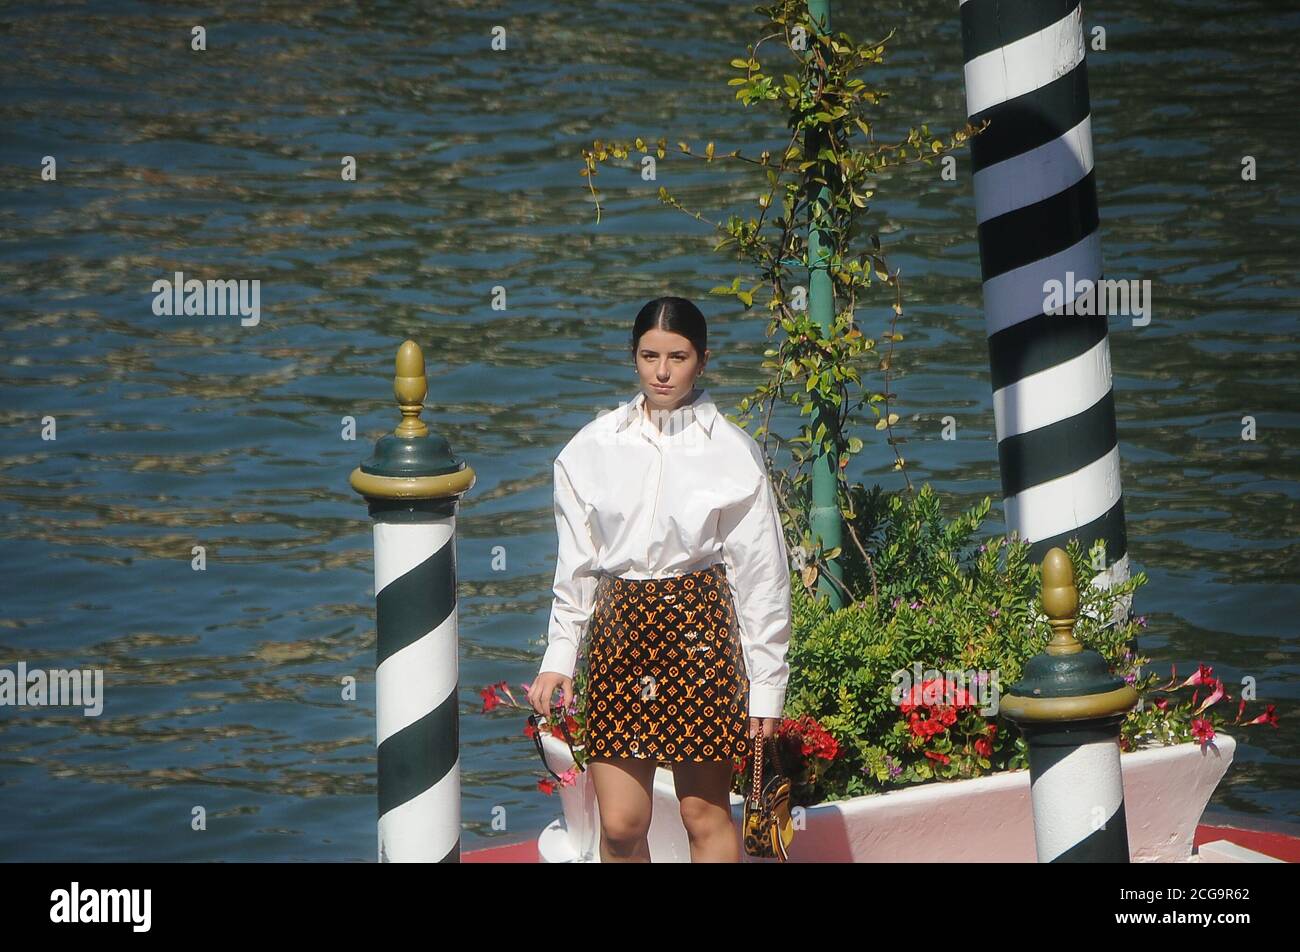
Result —
[{"label": "gold-topped striped mooring post standing left of the woman", "polygon": [[398,350],[402,421],[352,471],[374,520],[380,862],[460,861],[456,506],[474,471],[420,420],[424,354]]}]

